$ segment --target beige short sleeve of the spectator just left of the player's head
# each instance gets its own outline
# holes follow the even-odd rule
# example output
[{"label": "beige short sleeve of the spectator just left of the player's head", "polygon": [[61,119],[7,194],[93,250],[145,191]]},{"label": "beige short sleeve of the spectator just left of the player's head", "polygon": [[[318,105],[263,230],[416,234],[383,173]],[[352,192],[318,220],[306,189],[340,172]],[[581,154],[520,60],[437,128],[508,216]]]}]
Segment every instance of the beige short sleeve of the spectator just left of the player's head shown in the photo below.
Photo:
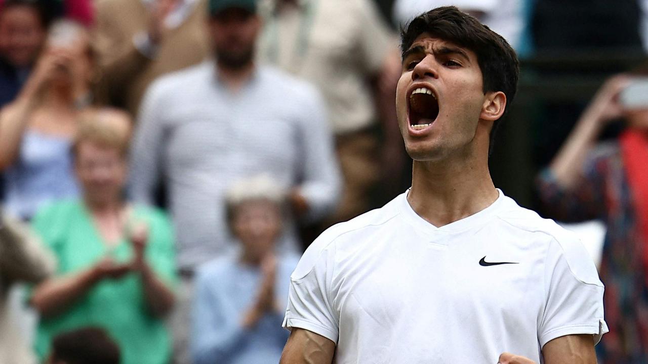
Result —
[{"label": "beige short sleeve of the spectator just left of the player's head", "polygon": [[367,73],[378,73],[389,54],[390,47],[397,49],[395,37],[380,16],[371,0],[355,0],[360,27],[359,49],[362,51],[362,64]]}]

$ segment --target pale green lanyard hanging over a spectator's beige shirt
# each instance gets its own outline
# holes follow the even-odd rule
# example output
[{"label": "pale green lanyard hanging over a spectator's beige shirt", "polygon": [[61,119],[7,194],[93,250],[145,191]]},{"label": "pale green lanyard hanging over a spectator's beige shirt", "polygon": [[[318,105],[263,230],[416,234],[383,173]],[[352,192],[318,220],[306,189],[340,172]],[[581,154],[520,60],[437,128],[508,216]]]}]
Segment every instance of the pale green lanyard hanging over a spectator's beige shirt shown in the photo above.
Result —
[{"label": "pale green lanyard hanging over a spectator's beige shirt", "polygon": [[[278,8],[272,11],[270,21],[268,21],[268,59],[270,62],[277,65],[279,63],[279,17]],[[308,43],[310,32],[312,31],[313,22],[316,13],[316,0],[307,0],[300,10],[301,19],[299,20],[299,30],[297,30],[297,39],[295,40],[295,54],[292,57],[295,60],[290,71],[297,72],[301,68],[304,61],[306,52],[308,51]]]}]

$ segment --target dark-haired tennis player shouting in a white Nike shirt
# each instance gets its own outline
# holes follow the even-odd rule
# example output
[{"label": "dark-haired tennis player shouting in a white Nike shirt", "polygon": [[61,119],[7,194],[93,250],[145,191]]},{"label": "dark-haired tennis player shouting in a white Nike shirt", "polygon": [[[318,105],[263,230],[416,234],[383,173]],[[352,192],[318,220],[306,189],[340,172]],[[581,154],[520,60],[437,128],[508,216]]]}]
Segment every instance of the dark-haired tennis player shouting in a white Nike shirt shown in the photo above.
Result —
[{"label": "dark-haired tennis player shouting in a white Nike shirt", "polygon": [[413,19],[402,50],[396,103],[412,186],[304,253],[281,363],[596,363],[607,326],[591,258],[489,174],[515,52],[454,7]]}]

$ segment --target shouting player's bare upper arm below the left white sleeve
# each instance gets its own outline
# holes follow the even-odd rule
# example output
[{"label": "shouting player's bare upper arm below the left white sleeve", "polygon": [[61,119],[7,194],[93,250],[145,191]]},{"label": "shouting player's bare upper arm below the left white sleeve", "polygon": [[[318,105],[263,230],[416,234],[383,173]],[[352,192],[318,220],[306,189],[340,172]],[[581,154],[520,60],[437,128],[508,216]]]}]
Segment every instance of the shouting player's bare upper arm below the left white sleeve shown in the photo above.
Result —
[{"label": "shouting player's bare upper arm below the left white sleeve", "polygon": [[293,328],[279,364],[330,364],[335,343],[301,328]]}]

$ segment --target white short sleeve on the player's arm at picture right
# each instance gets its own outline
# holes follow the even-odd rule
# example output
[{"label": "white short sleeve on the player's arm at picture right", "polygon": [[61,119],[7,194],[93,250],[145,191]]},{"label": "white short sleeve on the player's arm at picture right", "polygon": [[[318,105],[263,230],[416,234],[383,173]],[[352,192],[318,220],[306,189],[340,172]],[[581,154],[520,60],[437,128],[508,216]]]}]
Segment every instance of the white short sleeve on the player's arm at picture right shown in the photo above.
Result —
[{"label": "white short sleeve on the player's arm at picture right", "polygon": [[603,319],[603,283],[583,244],[571,234],[550,244],[545,266],[546,303],[538,339],[591,334],[596,345],[608,332]]}]

